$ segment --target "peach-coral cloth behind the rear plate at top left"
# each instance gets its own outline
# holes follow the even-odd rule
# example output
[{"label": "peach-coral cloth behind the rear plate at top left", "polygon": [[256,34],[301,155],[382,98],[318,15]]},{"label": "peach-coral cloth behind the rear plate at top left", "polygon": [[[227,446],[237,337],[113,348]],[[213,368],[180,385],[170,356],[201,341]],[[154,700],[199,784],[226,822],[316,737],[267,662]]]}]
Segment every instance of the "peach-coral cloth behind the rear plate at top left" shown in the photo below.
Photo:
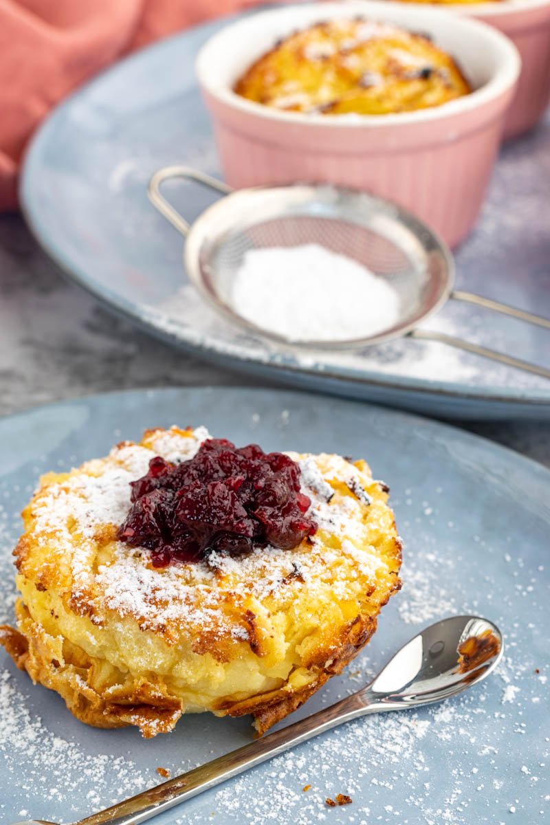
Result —
[{"label": "peach-coral cloth behind the rear plate at top left", "polygon": [[0,0],[0,211],[16,208],[26,142],[68,92],[129,51],[253,2]]}]

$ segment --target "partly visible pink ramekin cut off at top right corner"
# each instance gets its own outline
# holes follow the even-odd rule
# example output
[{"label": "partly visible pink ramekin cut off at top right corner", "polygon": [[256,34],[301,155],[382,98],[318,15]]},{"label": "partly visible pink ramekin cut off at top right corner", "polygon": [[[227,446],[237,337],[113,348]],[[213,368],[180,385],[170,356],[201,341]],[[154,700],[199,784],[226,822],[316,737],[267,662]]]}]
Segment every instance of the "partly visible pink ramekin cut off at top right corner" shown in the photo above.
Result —
[{"label": "partly visible pink ramekin cut off at top right corner", "polygon": [[445,8],[489,23],[510,37],[521,57],[521,72],[504,137],[532,129],[550,102],[550,0],[457,3]]}]

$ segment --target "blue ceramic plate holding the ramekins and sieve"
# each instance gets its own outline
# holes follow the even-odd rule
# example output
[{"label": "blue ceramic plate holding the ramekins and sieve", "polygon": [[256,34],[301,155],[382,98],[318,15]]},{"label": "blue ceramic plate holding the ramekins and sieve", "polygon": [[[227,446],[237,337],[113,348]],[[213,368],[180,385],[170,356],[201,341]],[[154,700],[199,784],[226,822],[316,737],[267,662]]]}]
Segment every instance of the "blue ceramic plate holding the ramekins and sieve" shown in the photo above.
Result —
[{"label": "blue ceramic plate holding the ramekins and sieve", "polygon": [[[225,22],[140,51],[83,87],[40,129],[26,156],[21,200],[49,255],[139,326],[233,368],[449,417],[548,416],[550,381],[534,375],[412,340],[293,354],[243,335],[195,295],[181,237],[145,189],[167,163],[219,174],[194,61]],[[502,152],[482,219],[457,260],[460,289],[548,316],[549,136],[547,124]],[[193,218],[204,196],[174,186],[176,205]],[[544,363],[548,353],[548,331],[468,305],[445,307],[434,325],[528,361]]]}]

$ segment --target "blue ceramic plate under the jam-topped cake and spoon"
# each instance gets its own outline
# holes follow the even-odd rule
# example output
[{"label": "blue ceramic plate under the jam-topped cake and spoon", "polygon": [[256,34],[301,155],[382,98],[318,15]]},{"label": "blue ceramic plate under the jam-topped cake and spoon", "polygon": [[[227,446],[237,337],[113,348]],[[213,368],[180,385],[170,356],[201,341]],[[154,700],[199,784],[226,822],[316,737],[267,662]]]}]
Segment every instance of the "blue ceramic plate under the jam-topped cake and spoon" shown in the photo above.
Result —
[{"label": "blue ceramic plate under the jam-topped cake and spoon", "polygon": [[[366,456],[392,487],[402,592],[347,671],[294,714],[355,691],[423,626],[487,615],[505,634],[498,672],[454,700],[360,719],[158,818],[159,825],[543,823],[548,813],[550,473],[452,427],[290,392],[169,389],[108,394],[0,422],[0,620],[12,621],[11,549],[40,473],[104,455],[146,427],[204,423],[237,444]],[[251,739],[249,719],[181,719],[145,741],[88,728],[0,653],[0,821],[75,819]],[[306,785],[310,790],[304,791]],[[349,794],[346,808],[325,799]],[[548,796],[547,796],[548,800]],[[540,813],[539,813],[540,812]]]}]

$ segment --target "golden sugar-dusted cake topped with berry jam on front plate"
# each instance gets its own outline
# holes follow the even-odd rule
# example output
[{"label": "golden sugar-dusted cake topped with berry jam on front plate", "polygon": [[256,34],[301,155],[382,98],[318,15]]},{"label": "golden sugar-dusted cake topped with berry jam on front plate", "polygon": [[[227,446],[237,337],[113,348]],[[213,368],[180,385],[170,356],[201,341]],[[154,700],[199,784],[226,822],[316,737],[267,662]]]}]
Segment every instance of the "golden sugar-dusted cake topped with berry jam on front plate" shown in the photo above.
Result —
[{"label": "golden sugar-dusted cake topped with berry jam on front plate", "polygon": [[[150,737],[171,730],[181,714],[210,710],[253,714],[263,733],[341,672],[400,586],[401,543],[387,488],[363,460],[273,460],[275,469],[297,465],[287,474],[299,479],[298,509],[284,505],[284,529],[298,540],[292,547],[270,544],[269,527],[249,524],[250,514],[237,527],[231,522],[240,530],[236,544],[227,539],[230,520],[225,533],[209,538],[206,516],[189,502],[187,521],[172,533],[166,508],[147,521],[157,481],[148,483],[148,498],[139,497],[136,481],[150,478],[160,457],[162,472],[179,474],[189,490],[189,462],[211,443],[202,427],[147,431],[139,444],[123,442],[106,458],[45,475],[23,512],[14,551],[17,629],[4,626],[0,641],[83,722],[137,725]],[[205,482],[197,479],[194,501],[202,502]],[[251,495],[261,484],[242,476],[223,483],[230,493],[248,484]],[[176,490],[174,500],[184,493]],[[136,507],[143,521],[131,520]],[[277,540],[276,531],[270,535]],[[288,545],[288,530],[281,535]]]}]

